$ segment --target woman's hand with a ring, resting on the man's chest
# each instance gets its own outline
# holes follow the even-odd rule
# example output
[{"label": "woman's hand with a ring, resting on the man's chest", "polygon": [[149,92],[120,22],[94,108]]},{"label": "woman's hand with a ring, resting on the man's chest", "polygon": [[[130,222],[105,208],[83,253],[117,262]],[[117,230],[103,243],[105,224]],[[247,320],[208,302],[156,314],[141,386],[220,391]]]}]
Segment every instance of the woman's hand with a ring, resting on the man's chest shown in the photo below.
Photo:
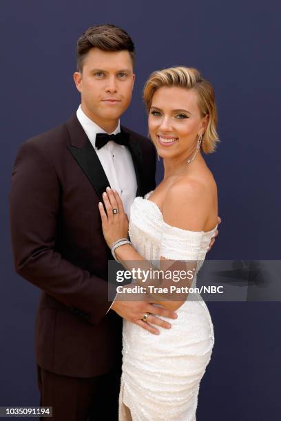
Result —
[{"label": "woman's hand with a ring, resting on the man's chest", "polygon": [[[127,238],[129,220],[123,208],[122,200],[115,190],[107,187],[106,192],[103,193],[103,202],[105,208],[99,202],[98,210],[101,214],[101,225],[105,241],[107,242],[107,246],[112,248],[115,241],[121,238]],[[117,213],[113,212],[115,209]]]}]

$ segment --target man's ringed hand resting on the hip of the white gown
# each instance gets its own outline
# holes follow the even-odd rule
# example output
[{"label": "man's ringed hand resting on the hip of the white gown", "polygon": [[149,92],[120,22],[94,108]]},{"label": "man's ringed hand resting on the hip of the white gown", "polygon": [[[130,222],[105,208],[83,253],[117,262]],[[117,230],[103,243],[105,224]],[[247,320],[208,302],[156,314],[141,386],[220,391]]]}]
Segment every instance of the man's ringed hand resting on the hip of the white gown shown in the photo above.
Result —
[{"label": "man's ringed hand resting on the hip of the white gown", "polygon": [[[169,319],[177,319],[178,317],[175,312],[158,307],[158,305],[147,303],[146,301],[118,301],[117,299],[111,308],[119,316],[123,317],[123,319],[136,323],[136,325],[143,327],[143,329],[155,335],[158,335],[160,332],[152,325],[164,327],[164,329],[170,329],[171,325],[167,321],[158,319],[154,314],[168,317]],[[145,313],[149,313],[146,322],[142,320]]]}]

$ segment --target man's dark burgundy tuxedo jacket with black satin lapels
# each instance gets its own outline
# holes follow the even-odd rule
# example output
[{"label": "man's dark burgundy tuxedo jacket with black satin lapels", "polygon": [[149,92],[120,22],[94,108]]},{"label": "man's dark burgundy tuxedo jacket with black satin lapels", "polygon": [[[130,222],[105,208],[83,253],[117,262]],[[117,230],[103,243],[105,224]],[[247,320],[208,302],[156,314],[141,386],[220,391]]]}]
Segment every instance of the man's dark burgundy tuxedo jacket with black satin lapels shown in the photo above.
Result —
[{"label": "man's dark burgundy tuxedo jacket with black satin lapels", "polygon": [[[138,196],[155,188],[152,142],[129,133]],[[41,288],[37,363],[65,376],[105,374],[121,363],[122,319],[107,288],[111,258],[98,202],[110,183],[76,114],[21,145],[12,172],[14,265]],[[114,296],[114,295],[113,295]],[[106,314],[107,313],[107,314]]]}]

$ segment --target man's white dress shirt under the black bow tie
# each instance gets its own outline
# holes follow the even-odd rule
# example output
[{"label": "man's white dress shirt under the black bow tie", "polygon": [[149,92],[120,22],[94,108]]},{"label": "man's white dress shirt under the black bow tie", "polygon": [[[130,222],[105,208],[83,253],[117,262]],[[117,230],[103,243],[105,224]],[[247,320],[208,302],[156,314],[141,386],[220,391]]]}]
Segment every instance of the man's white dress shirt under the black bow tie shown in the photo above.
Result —
[{"label": "man's white dress shirt under the black bow tie", "polygon": [[[106,133],[101,127],[96,125],[89,117],[85,115],[81,109],[76,111],[76,116],[83,127],[87,137],[89,138],[98,159],[103,166],[107,180],[110,182],[110,187],[114,188],[120,195],[125,212],[129,218],[129,211],[136,197],[137,182],[136,173],[134,171],[134,163],[132,155],[127,147],[123,144],[116,144],[113,140],[107,142],[101,149],[96,148],[96,133]],[[120,121],[112,133],[117,134],[121,131]]]}]

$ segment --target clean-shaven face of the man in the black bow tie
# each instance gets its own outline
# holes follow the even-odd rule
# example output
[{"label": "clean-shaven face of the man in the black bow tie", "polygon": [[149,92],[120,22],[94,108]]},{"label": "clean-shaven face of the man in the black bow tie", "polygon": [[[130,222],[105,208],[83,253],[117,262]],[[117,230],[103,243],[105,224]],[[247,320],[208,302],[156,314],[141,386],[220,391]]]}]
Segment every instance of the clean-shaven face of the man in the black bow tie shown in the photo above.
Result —
[{"label": "clean-shaven face of the man in the black bow tie", "polygon": [[92,48],[85,57],[82,73],[74,73],[85,114],[107,132],[129,106],[135,75],[127,50],[106,52]]}]

